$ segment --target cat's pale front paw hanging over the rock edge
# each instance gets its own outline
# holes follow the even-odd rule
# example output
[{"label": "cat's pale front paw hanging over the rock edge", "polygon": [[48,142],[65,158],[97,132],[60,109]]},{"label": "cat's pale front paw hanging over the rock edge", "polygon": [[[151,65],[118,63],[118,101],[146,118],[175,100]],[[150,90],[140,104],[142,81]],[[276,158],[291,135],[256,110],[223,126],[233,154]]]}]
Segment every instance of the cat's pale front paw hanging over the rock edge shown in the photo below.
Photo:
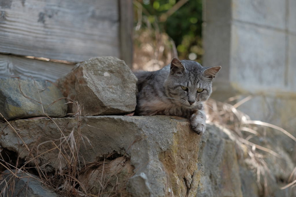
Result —
[{"label": "cat's pale front paw hanging over the rock edge", "polygon": [[193,131],[199,135],[205,133],[205,124],[206,116],[203,109],[195,111],[190,117],[190,125]]}]

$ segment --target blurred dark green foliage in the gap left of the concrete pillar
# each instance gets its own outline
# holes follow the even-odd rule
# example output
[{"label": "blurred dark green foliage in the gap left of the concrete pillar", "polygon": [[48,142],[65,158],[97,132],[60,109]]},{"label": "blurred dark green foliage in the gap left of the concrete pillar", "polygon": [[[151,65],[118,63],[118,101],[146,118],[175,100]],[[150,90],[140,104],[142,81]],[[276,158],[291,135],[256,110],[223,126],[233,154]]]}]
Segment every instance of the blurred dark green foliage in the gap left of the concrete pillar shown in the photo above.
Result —
[{"label": "blurred dark green foliage in the gap left of the concrete pillar", "polygon": [[176,5],[178,1],[185,2],[184,0],[139,0],[151,14],[148,16],[149,21],[153,23],[156,20],[160,30],[174,40],[179,58],[195,59],[201,63],[202,0],[188,0],[171,14],[173,9],[178,7]]}]

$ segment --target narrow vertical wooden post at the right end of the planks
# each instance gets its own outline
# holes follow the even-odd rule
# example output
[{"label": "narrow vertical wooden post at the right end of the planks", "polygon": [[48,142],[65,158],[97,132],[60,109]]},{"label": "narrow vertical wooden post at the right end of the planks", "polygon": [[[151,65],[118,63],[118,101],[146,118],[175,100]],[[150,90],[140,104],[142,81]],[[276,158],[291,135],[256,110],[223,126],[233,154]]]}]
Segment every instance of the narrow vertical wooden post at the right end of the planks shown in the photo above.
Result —
[{"label": "narrow vertical wooden post at the right end of the planks", "polygon": [[120,58],[133,64],[133,0],[120,0]]}]

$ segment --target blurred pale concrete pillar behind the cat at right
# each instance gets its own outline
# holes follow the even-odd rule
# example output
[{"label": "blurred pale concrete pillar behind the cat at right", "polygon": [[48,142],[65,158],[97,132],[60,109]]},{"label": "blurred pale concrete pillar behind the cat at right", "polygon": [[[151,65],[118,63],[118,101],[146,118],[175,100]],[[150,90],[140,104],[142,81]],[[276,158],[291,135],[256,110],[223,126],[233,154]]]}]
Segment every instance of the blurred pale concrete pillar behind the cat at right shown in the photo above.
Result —
[{"label": "blurred pale concrete pillar behind the cat at right", "polygon": [[204,0],[203,66],[222,66],[212,97],[296,136],[296,0]]}]

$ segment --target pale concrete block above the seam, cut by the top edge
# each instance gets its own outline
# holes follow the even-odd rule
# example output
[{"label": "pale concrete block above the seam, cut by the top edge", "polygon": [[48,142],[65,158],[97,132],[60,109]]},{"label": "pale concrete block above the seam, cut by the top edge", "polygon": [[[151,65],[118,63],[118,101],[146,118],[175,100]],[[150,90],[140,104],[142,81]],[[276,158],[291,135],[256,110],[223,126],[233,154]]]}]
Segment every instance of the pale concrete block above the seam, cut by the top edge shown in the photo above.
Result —
[{"label": "pale concrete block above the seam, cut by the top edge", "polygon": [[286,2],[282,0],[235,0],[232,1],[234,20],[269,26],[284,30]]}]

